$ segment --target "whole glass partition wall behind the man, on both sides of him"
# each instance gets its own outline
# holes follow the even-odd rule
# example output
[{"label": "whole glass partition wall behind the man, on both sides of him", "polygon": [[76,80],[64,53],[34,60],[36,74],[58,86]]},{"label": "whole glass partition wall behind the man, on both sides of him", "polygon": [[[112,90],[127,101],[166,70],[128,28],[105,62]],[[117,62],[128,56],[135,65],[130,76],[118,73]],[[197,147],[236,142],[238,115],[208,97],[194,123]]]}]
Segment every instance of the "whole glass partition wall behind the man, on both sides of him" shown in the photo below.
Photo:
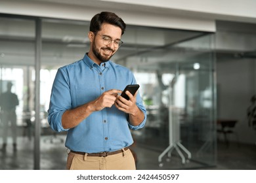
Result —
[{"label": "whole glass partition wall behind the man, on both sides of him", "polygon": [[[11,81],[12,92],[19,101],[17,151],[12,153],[9,133],[9,153],[0,155],[0,169],[65,169],[66,166],[66,133],[51,130],[47,109],[57,69],[83,58],[89,50],[89,22],[47,18],[40,22],[42,47],[37,86],[40,99],[36,102],[35,20],[0,18],[1,93]],[[127,25],[122,40],[124,44],[112,60],[133,71],[148,110],[145,127],[132,131],[139,159],[137,169],[215,165],[213,35]],[[39,106],[39,134],[35,133],[35,106]],[[0,126],[2,137],[3,122]],[[8,128],[11,131],[11,123]],[[36,138],[40,141],[39,151],[34,145]],[[39,165],[35,166],[36,163]]]}]

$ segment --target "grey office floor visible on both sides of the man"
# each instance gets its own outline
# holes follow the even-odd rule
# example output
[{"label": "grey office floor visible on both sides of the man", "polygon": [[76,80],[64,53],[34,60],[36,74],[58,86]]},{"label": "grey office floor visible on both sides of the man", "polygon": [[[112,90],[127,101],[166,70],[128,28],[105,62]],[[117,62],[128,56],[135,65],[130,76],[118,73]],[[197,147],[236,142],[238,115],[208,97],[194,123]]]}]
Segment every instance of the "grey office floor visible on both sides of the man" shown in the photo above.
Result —
[{"label": "grey office floor visible on both sides of the man", "polygon": [[[40,168],[43,170],[64,170],[66,165],[66,148],[64,147],[64,135],[51,139],[51,136],[41,137]],[[51,141],[52,140],[52,141]],[[0,146],[2,144],[0,143]],[[137,169],[238,169],[256,170],[256,145],[230,143],[226,146],[218,142],[217,165],[198,166],[198,163],[189,161],[181,162],[179,156],[172,156],[169,161],[163,159],[163,166],[159,166],[158,156],[160,150],[150,146],[136,144],[133,150],[137,154]],[[11,144],[7,146],[6,152],[0,151],[0,169],[33,169],[33,142],[25,137],[18,138],[18,150],[13,152]]]}]

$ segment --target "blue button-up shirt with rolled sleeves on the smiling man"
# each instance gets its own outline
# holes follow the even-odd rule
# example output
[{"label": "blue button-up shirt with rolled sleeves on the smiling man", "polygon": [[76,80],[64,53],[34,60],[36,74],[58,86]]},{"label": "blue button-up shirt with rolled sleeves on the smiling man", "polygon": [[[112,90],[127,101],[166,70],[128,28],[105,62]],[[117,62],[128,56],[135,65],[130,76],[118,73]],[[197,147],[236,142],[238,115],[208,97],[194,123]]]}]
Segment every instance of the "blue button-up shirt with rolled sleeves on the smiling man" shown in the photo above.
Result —
[{"label": "blue button-up shirt with rolled sleeves on the smiling man", "polygon": [[128,114],[114,105],[93,112],[72,129],[62,127],[62,114],[95,100],[108,90],[124,90],[136,84],[133,73],[126,67],[107,61],[97,65],[87,54],[75,63],[58,69],[49,105],[49,124],[54,131],[66,131],[65,146],[77,152],[112,152],[133,144],[130,129],[140,129],[146,123],[146,108],[138,93],[137,106],[144,113],[138,126],[128,122]]}]

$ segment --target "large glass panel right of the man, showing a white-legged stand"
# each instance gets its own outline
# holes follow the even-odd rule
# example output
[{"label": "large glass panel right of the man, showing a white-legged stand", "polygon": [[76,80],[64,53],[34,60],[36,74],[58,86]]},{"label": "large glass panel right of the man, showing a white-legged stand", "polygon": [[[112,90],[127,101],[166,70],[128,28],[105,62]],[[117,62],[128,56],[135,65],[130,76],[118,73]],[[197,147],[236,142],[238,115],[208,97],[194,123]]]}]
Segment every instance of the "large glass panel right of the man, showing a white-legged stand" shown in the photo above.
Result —
[{"label": "large glass panel right of the man, showing a white-legged stand", "polygon": [[135,77],[148,120],[133,135],[137,146],[158,152],[159,169],[203,168],[217,161],[213,36],[201,33],[137,59],[142,61]]}]

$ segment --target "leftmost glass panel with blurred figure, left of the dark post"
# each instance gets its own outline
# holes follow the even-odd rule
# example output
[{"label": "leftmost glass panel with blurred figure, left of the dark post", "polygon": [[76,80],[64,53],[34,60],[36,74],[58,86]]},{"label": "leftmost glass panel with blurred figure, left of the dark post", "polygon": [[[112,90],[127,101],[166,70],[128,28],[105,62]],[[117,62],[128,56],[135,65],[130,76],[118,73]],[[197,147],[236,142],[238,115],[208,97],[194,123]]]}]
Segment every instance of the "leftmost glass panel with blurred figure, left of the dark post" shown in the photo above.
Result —
[{"label": "leftmost glass panel with blurred figure, left of the dark post", "polygon": [[34,20],[0,17],[0,83],[0,169],[33,169]]}]

